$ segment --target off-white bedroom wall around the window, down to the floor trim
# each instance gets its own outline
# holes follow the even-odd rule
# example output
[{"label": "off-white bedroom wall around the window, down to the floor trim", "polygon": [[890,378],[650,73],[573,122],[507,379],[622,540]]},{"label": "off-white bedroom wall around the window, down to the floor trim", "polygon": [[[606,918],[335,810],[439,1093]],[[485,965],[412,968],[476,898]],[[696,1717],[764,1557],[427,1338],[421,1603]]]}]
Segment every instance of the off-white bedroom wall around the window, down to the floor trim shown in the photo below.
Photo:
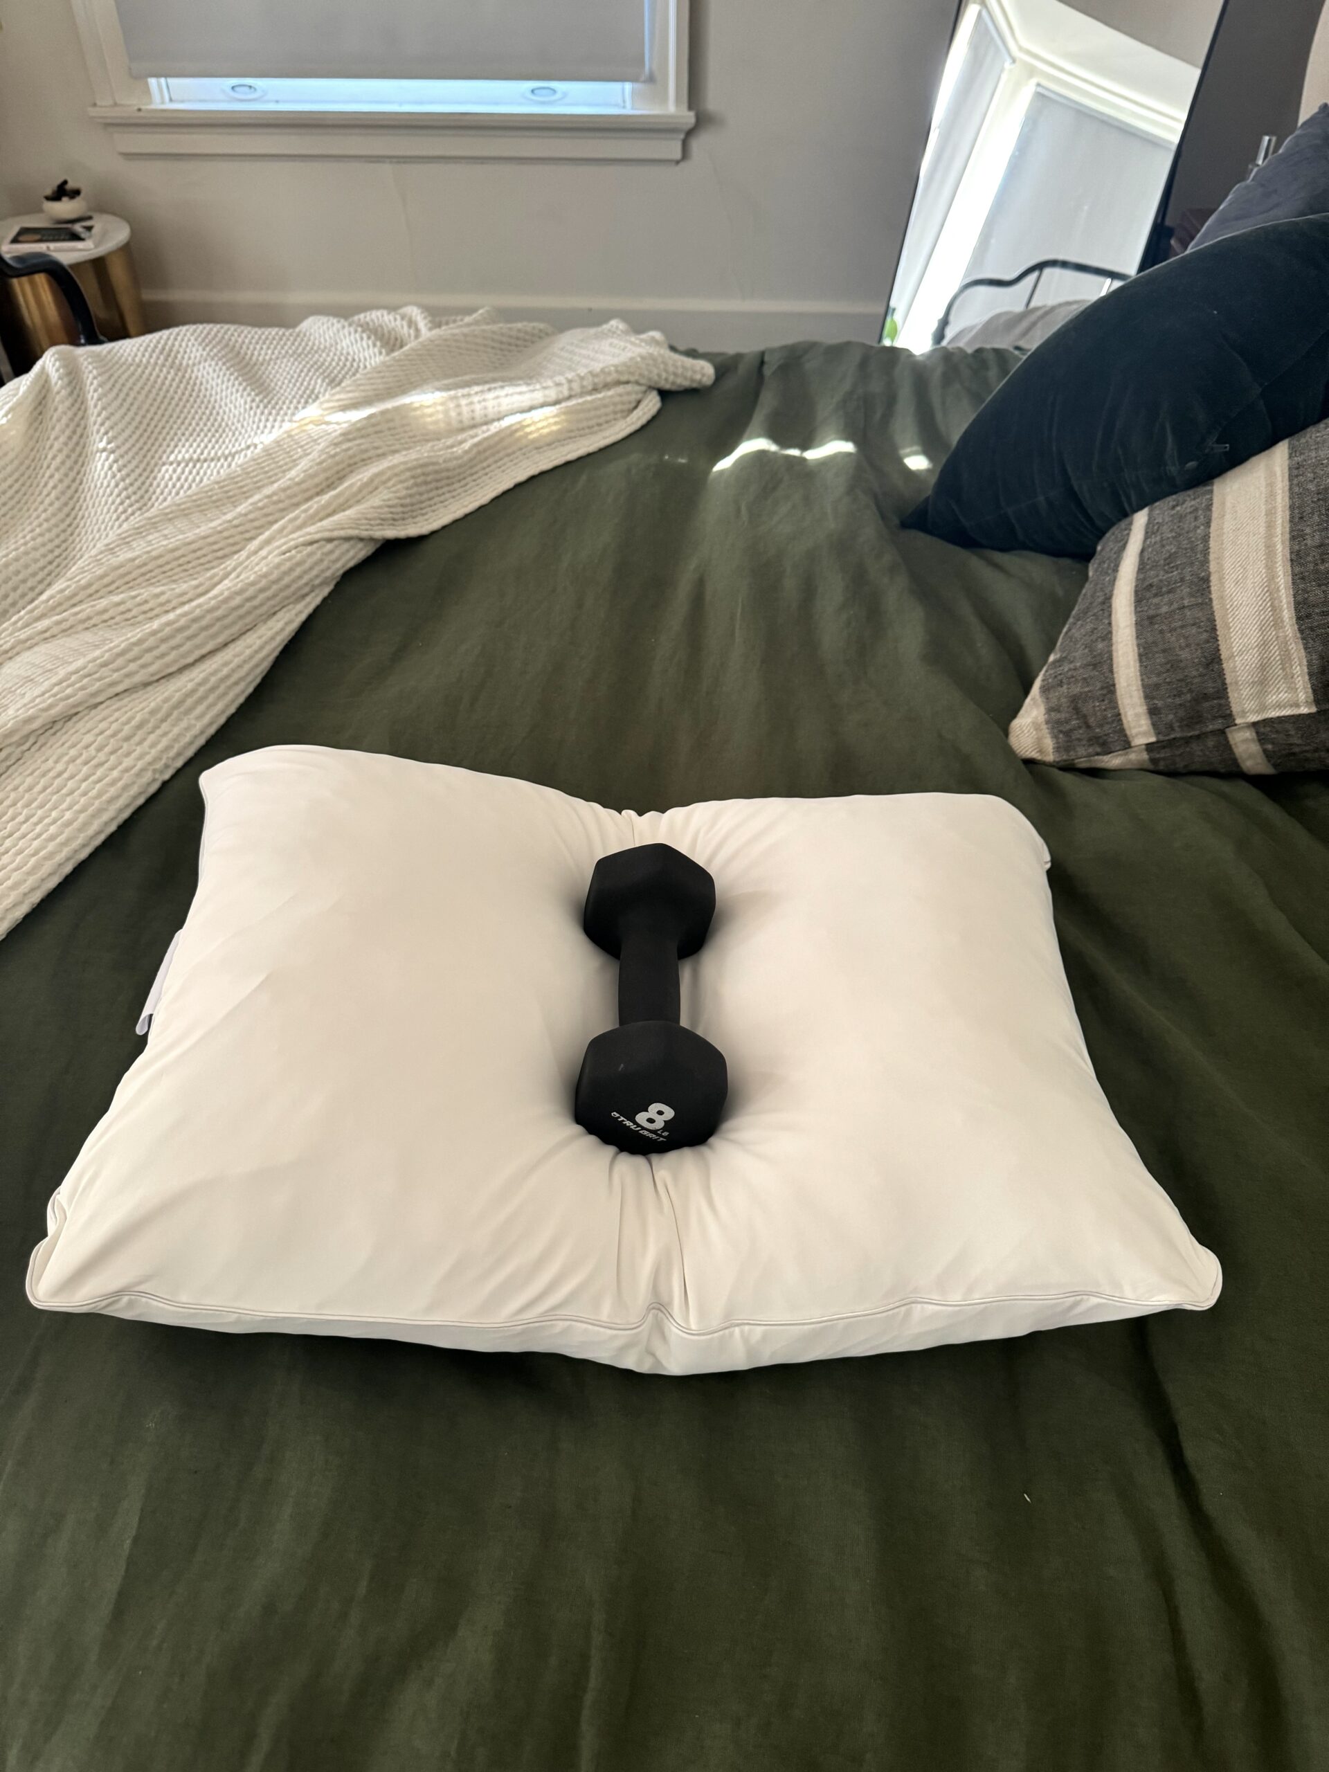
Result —
[{"label": "off-white bedroom wall around the window, down to the floor trim", "polygon": [[422,301],[679,344],[874,338],[953,0],[693,0],[680,165],[122,159],[69,0],[0,0],[0,200],[60,175],[135,227],[158,319]]}]

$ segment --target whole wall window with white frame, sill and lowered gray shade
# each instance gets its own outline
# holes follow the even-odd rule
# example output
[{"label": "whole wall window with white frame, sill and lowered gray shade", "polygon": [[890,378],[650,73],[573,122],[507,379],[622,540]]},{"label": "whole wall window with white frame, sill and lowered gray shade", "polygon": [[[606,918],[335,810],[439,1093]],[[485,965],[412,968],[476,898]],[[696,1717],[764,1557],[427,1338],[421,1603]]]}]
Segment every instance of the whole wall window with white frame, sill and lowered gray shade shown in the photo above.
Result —
[{"label": "whole wall window with white frame, sill and lowered gray shade", "polygon": [[680,159],[695,122],[688,0],[73,5],[124,154]]}]

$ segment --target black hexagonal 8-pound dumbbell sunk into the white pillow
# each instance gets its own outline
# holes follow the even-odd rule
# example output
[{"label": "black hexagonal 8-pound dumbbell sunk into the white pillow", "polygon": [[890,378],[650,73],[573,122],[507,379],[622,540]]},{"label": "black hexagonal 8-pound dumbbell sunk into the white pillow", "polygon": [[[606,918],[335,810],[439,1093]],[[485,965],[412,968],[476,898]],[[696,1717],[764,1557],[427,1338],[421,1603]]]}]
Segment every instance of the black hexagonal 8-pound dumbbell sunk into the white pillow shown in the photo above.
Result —
[{"label": "black hexagonal 8-pound dumbbell sunk into the white pillow", "polygon": [[618,1026],[581,1060],[576,1118],[636,1154],[702,1145],[728,1095],[725,1054],[679,1026],[679,960],[705,941],[716,882],[670,843],[602,856],[581,927],[618,960]]}]

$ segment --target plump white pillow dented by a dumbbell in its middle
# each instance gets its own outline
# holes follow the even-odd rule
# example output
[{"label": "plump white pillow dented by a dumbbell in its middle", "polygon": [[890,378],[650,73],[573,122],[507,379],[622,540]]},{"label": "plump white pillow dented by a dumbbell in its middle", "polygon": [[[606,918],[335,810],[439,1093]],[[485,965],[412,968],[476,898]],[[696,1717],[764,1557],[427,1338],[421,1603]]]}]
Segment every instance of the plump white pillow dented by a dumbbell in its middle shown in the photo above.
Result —
[{"label": "plump white pillow dented by a dumbbell in its middle", "polygon": [[[198,891],[34,1304],[682,1373],[1214,1302],[1003,801],[618,813],[314,746],[202,783]],[[664,1157],[572,1120],[615,1022],[587,882],[649,842],[714,875],[682,1019],[730,1069],[716,1136]]]}]

